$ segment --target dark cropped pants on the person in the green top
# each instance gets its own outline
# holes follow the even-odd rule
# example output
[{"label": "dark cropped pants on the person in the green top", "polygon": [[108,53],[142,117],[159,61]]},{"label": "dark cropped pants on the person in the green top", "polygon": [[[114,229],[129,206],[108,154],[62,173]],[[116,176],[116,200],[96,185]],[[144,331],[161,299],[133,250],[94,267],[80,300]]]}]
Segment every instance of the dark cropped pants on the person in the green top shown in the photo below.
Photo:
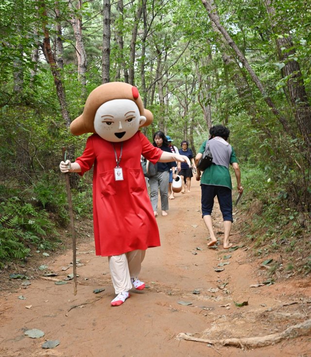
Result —
[{"label": "dark cropped pants on the person in the green top", "polygon": [[202,218],[210,215],[217,196],[224,221],[233,221],[232,218],[232,192],[229,187],[201,184]]}]

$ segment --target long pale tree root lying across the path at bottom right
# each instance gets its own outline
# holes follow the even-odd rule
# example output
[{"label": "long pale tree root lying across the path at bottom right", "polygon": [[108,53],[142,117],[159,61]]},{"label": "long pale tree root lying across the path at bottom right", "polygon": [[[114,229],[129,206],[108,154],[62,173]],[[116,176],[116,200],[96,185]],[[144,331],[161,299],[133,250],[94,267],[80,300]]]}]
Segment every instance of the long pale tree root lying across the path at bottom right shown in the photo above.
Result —
[{"label": "long pale tree root lying across the path at bottom right", "polygon": [[242,339],[198,339],[189,335],[186,335],[184,333],[180,333],[176,336],[176,339],[187,339],[190,341],[197,341],[197,342],[205,342],[209,344],[217,344],[221,343],[223,346],[235,346],[235,347],[250,347],[250,348],[255,348],[255,347],[264,347],[271,345],[273,343],[280,342],[283,339],[289,339],[289,338],[296,338],[299,336],[306,336],[311,333],[311,319],[306,320],[304,322],[298,323],[294,326],[291,326],[287,328],[285,331],[277,333],[277,334],[271,334],[267,336],[258,336],[258,337],[248,337],[248,338],[242,338]]}]

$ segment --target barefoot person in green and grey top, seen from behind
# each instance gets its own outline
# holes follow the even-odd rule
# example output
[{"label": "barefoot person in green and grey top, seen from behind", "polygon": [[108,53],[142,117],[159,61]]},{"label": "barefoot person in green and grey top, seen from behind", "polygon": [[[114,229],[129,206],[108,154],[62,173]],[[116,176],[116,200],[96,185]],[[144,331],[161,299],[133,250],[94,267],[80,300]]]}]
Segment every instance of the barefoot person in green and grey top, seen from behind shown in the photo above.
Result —
[{"label": "barefoot person in green and grey top, seen from behind", "polygon": [[[201,179],[202,190],[202,217],[207,226],[210,242],[207,246],[213,246],[217,240],[213,230],[213,221],[211,213],[214,205],[214,197],[217,196],[220,210],[224,218],[224,249],[229,249],[232,244],[229,244],[229,235],[232,225],[232,183],[229,172],[229,164],[232,165],[237,179],[238,191],[243,192],[241,185],[241,171],[235,156],[233,147],[227,143],[230,130],[223,125],[215,125],[209,129],[209,148],[213,156],[212,164],[203,171],[201,178],[201,171],[197,169],[196,180]],[[204,154],[207,140],[202,143],[199,153],[195,157],[195,164]]]}]

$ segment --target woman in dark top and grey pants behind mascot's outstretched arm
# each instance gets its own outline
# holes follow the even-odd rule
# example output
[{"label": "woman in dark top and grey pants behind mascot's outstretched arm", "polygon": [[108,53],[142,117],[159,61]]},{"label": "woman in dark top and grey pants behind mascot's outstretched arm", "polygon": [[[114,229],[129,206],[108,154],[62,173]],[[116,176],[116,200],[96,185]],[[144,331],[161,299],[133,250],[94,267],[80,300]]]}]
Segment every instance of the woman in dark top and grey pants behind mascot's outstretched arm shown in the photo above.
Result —
[{"label": "woman in dark top and grey pants behind mascot's outstretched arm", "polygon": [[[153,145],[160,148],[162,151],[167,151],[168,153],[172,153],[169,143],[167,141],[166,136],[162,131],[157,131],[154,135],[154,143]],[[169,179],[170,179],[170,170],[173,170],[173,178],[176,178],[175,172],[176,162],[158,162],[157,163],[157,173],[155,176],[149,178],[149,186],[150,186],[150,199],[151,205],[154,210],[155,217],[157,216],[157,198],[158,198],[158,189],[160,188],[160,196],[161,196],[161,209],[162,215],[167,215],[167,210],[169,209]],[[188,166],[188,164],[187,164]]]}]

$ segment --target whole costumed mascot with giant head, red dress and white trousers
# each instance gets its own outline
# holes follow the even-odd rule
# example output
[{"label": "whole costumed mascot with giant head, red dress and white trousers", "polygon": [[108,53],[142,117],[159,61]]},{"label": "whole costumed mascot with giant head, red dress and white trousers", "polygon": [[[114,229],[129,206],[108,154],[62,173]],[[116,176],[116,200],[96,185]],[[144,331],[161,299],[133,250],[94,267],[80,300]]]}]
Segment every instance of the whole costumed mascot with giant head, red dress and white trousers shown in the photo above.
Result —
[{"label": "whole costumed mascot with giant head, red dress and white trousers", "polygon": [[60,163],[61,172],[83,175],[94,165],[93,221],[96,255],[107,256],[119,306],[130,297],[147,248],[160,246],[159,232],[148,196],[140,156],[155,163],[190,162],[187,157],[154,147],[138,130],[150,125],[152,113],[144,109],[136,87],[122,82],[94,89],[83,114],[70,125],[73,135],[93,133],[83,155]]}]

